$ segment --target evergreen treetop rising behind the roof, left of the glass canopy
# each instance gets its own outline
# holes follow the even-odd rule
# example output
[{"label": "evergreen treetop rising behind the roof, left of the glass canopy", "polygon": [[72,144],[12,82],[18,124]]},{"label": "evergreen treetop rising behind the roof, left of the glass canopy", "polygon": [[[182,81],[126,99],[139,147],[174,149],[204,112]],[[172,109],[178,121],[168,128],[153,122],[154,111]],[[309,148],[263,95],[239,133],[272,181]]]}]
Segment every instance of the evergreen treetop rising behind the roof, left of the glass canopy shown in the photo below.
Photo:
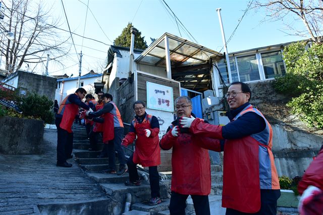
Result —
[{"label": "evergreen treetop rising behind the roof, left of the glass canopy", "polygon": [[[125,27],[121,34],[113,41],[114,45],[130,47],[131,44],[131,33],[130,29],[134,27],[132,23],[128,23],[127,27]],[[138,31],[135,36],[135,45],[134,48],[137,49],[146,49],[147,43],[145,41],[145,37],[141,37],[141,32]]]}]

